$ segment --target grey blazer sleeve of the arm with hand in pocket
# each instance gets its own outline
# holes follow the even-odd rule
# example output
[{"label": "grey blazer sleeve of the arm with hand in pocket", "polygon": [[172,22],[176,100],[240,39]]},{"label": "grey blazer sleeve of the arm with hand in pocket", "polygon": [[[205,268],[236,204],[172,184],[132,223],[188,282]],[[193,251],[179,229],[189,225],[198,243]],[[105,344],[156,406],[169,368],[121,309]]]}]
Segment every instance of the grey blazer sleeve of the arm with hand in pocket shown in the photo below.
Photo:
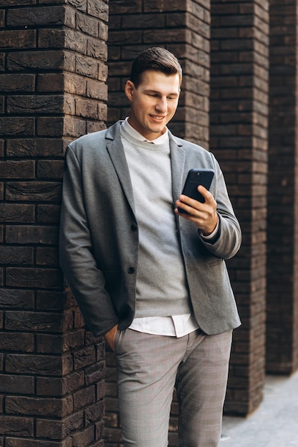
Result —
[{"label": "grey blazer sleeve of the arm with hand in pocket", "polygon": [[59,258],[66,281],[74,293],[86,326],[100,336],[118,323],[104,276],[96,266],[84,205],[81,166],[69,146],[66,151]]}]

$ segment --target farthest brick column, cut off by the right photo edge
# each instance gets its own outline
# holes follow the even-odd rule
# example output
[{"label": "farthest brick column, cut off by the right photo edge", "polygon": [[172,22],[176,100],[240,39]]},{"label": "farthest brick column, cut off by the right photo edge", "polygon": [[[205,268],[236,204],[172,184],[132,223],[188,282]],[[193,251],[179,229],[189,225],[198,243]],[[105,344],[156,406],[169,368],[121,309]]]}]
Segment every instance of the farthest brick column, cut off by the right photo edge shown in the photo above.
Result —
[{"label": "farthest brick column, cut off by the right photo edge", "polygon": [[270,1],[267,370],[298,368],[297,1]]}]

